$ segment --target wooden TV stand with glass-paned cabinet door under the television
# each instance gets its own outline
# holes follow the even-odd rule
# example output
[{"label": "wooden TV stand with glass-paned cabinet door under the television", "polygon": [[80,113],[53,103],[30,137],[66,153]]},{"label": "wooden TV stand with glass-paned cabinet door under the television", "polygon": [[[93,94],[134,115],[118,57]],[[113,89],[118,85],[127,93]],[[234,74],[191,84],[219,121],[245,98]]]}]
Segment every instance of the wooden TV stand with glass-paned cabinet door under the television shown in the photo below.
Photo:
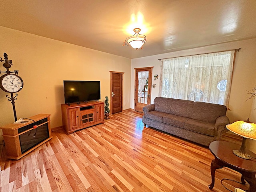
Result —
[{"label": "wooden TV stand with glass-paned cabinet door under the television", "polygon": [[62,124],[70,134],[77,130],[104,123],[104,102],[62,104]]}]

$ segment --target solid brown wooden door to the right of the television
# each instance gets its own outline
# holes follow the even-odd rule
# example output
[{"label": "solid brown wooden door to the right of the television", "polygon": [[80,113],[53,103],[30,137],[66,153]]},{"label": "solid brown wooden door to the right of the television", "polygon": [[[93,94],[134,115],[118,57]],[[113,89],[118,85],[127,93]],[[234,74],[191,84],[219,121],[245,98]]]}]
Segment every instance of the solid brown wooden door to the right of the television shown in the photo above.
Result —
[{"label": "solid brown wooden door to the right of the television", "polygon": [[111,114],[122,112],[122,80],[122,72],[111,72]]}]

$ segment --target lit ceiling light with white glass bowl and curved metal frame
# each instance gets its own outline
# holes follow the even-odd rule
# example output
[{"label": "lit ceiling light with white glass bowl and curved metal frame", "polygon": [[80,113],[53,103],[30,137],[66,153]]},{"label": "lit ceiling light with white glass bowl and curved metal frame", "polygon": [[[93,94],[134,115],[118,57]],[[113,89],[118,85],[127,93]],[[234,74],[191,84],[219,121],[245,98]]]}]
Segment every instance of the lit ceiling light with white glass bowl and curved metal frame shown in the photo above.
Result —
[{"label": "lit ceiling light with white glass bowl and curved metal frame", "polygon": [[142,45],[146,42],[146,36],[139,34],[140,28],[135,28],[133,31],[135,32],[135,34],[126,38],[123,46],[131,45],[132,48],[138,50],[139,48],[142,48]]}]

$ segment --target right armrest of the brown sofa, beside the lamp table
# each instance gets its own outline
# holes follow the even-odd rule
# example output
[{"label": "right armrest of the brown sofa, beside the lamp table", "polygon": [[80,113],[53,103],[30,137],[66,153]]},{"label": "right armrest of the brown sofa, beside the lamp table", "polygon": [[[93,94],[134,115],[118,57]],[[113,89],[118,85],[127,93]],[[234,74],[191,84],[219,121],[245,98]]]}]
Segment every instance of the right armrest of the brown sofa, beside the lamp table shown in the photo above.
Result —
[{"label": "right armrest of the brown sofa, beside the lamp table", "polygon": [[223,133],[226,133],[228,129],[226,125],[229,124],[229,119],[227,116],[220,116],[216,119],[215,122],[215,134],[214,134],[214,141],[220,140]]}]

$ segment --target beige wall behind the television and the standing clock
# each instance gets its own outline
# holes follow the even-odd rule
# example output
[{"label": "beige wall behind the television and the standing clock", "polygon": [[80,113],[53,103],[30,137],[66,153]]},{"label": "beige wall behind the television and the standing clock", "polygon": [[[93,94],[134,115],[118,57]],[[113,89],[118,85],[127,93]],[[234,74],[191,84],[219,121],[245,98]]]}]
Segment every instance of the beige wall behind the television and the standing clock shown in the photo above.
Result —
[{"label": "beige wall behind the television and the standing clock", "polygon": [[[130,59],[4,27],[0,39],[0,57],[6,52],[10,70],[19,70],[24,81],[15,101],[18,119],[46,113],[52,128],[62,126],[63,80],[100,80],[104,101],[110,97],[109,71],[124,72],[123,109],[130,108]],[[6,71],[2,64],[0,70]],[[6,94],[0,90],[0,126],[14,122]]]}]

